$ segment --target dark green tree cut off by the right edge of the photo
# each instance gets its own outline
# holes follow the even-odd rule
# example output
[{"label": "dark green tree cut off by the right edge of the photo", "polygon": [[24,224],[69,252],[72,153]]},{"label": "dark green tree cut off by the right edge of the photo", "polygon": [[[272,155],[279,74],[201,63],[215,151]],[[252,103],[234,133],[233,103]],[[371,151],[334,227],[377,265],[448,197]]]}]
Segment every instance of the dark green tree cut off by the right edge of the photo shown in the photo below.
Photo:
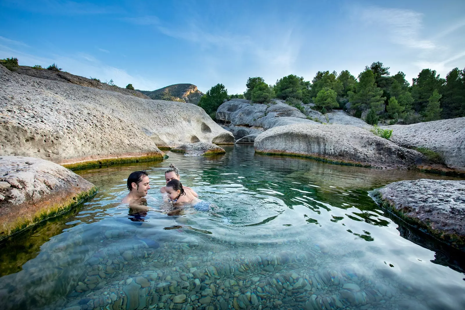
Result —
[{"label": "dark green tree cut off by the right edge of the photo", "polygon": [[452,69],[442,87],[442,118],[465,116],[465,69]]}]

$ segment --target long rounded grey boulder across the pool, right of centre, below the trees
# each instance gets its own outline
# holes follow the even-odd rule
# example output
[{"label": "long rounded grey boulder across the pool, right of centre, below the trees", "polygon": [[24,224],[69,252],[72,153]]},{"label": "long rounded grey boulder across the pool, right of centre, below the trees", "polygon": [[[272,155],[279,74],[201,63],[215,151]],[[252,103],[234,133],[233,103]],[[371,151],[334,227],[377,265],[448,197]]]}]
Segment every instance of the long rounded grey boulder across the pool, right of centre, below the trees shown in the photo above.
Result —
[{"label": "long rounded grey boulder across the pool, right of centre, below the trees", "polygon": [[255,138],[255,151],[298,155],[333,163],[408,168],[423,155],[399,147],[368,130],[344,125],[293,124],[268,129]]}]

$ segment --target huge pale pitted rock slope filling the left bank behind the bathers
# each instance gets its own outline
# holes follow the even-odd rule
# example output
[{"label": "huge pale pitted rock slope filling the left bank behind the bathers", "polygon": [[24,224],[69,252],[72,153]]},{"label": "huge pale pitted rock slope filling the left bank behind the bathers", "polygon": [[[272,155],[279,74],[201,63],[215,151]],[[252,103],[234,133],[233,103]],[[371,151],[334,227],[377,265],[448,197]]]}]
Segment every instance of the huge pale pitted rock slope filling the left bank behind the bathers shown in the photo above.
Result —
[{"label": "huge pale pitted rock slope filling the left bank behind the bathers", "polygon": [[160,147],[234,143],[195,105],[20,75],[0,66],[0,155],[69,164],[161,159]]}]

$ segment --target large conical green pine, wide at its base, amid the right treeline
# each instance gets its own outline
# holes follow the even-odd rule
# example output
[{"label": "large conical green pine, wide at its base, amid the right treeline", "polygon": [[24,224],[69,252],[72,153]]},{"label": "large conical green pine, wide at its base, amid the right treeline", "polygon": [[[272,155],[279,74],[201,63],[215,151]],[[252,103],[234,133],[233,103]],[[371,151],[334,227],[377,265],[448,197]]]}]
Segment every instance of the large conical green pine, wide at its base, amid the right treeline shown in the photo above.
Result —
[{"label": "large conical green pine, wide at its base, amid the right treeline", "polygon": [[359,74],[359,82],[355,92],[349,91],[348,94],[349,101],[352,103],[351,108],[356,111],[365,111],[371,108],[375,112],[380,112],[386,99],[381,97],[383,90],[376,86],[375,76],[371,69],[366,69]]}]

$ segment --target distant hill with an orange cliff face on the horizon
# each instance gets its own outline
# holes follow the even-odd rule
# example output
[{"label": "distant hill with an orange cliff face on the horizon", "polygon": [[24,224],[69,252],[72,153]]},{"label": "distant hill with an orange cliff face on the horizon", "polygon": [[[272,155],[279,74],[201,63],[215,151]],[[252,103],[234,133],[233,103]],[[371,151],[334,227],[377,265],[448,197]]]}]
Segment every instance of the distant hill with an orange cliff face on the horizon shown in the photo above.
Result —
[{"label": "distant hill with an orange cliff face on the horizon", "polygon": [[199,104],[200,98],[204,95],[193,84],[174,84],[159,88],[157,90],[139,90],[142,94],[149,96],[152,99],[168,100],[168,101],[181,101]]}]

